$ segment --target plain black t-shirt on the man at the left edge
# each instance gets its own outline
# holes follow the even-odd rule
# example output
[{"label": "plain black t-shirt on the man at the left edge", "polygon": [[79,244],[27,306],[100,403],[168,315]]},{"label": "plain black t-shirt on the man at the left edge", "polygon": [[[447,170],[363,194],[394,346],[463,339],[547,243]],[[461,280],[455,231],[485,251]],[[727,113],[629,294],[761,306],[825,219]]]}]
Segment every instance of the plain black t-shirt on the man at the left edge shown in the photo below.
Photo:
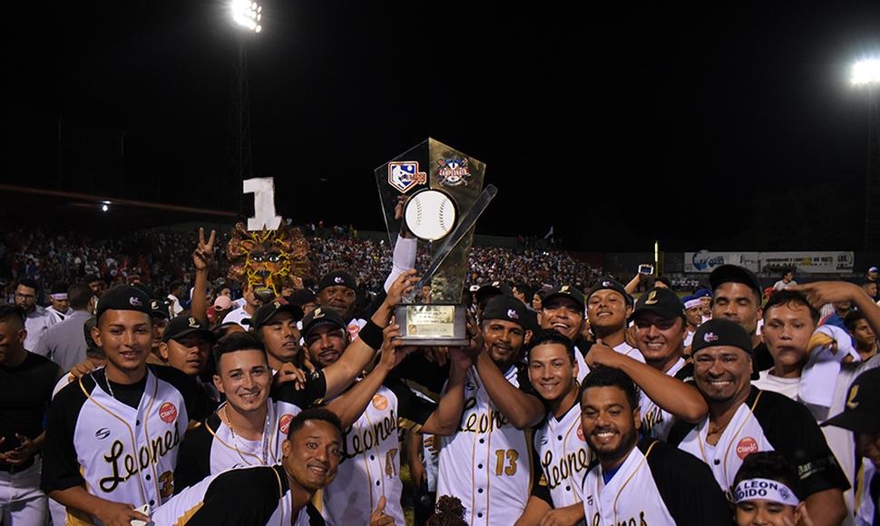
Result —
[{"label": "plain black t-shirt on the man at the left edge", "polygon": [[31,440],[43,433],[52,391],[61,376],[61,369],[53,361],[25,352],[21,364],[0,365],[0,437],[5,438],[0,452],[21,445],[15,433]]}]

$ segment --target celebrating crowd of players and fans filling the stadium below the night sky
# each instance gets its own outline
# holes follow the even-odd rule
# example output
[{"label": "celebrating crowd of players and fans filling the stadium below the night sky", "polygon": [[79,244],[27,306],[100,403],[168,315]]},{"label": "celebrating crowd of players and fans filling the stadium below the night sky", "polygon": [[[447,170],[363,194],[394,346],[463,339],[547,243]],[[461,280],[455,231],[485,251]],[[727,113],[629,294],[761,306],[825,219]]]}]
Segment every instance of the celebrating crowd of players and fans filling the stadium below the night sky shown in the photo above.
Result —
[{"label": "celebrating crowd of players and fans filling the stadium below the night sky", "polygon": [[413,346],[416,239],[332,232],[271,297],[214,232],[5,232],[0,523],[880,523],[876,269],[682,298],[474,248],[464,334]]}]

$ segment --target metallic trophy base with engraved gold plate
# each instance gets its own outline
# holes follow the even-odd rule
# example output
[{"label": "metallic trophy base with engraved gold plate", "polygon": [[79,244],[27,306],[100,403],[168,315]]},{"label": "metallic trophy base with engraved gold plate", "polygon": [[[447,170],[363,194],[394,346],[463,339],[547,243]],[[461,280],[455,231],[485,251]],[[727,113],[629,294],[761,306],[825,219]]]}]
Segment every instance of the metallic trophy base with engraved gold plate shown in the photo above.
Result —
[{"label": "metallic trophy base with engraved gold plate", "polygon": [[397,339],[410,346],[467,346],[467,307],[464,305],[428,304],[398,305]]}]

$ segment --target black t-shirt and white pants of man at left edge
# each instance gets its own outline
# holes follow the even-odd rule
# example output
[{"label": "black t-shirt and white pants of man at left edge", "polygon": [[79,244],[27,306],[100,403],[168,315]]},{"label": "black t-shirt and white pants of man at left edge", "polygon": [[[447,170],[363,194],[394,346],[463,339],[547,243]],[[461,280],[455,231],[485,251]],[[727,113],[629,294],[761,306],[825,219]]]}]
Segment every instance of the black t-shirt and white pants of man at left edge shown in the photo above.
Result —
[{"label": "black t-shirt and white pants of man at left edge", "polygon": [[[27,353],[19,365],[0,365],[0,451],[19,446],[16,433],[30,440],[43,433],[59,375],[58,365],[34,353]],[[21,464],[0,463],[0,522],[43,526],[46,496],[40,490],[40,467],[39,453]]]}]

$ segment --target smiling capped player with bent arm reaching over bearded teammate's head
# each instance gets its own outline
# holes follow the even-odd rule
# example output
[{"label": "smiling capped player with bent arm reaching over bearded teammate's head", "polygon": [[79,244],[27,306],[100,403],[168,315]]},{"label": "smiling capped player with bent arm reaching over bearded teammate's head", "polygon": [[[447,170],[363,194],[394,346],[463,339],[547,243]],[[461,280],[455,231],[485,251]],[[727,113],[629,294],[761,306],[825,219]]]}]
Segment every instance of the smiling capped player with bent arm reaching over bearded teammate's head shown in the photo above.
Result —
[{"label": "smiling capped player with bent arm reaching over bearded teammate's head", "polygon": [[629,375],[641,390],[641,433],[665,439],[675,420],[699,422],[709,411],[692,385],[693,367],[682,356],[684,306],[669,288],[651,288],[639,298],[632,320],[645,363],[597,344],[587,355],[587,364]]}]

